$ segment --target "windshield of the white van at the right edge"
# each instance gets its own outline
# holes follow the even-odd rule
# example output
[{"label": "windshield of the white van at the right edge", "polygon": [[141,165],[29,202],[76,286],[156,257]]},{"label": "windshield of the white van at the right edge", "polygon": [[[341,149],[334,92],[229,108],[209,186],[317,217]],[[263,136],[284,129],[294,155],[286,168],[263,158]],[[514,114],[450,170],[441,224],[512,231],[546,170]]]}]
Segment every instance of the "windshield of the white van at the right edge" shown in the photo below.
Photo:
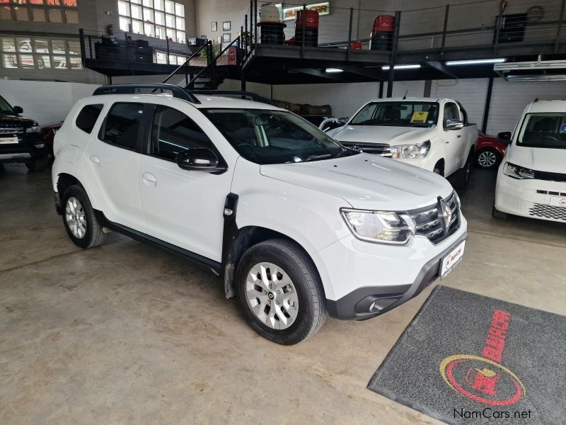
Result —
[{"label": "windshield of the white van at the right edge", "polygon": [[566,149],[566,113],[528,113],[519,132],[517,145]]}]

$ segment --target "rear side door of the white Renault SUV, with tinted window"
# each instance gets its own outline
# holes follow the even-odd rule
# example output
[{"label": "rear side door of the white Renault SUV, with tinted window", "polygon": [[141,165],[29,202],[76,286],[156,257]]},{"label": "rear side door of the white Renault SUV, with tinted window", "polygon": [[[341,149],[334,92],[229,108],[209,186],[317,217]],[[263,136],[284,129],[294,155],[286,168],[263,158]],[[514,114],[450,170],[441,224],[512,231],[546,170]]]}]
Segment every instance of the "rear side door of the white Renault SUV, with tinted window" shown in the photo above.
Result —
[{"label": "rear side door of the white Renault SUV, with tinted window", "polygon": [[[85,151],[85,162],[95,186],[99,208],[111,222],[143,231],[138,188],[143,103],[110,106],[100,130]],[[98,187],[96,187],[98,186]]]}]

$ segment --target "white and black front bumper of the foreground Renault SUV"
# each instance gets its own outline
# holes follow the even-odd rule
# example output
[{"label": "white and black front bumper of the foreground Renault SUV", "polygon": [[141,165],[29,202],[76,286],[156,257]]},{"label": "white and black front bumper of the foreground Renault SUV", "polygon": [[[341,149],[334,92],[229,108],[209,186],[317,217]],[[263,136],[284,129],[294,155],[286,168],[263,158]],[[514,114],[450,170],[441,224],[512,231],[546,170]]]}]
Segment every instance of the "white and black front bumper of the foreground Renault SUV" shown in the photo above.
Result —
[{"label": "white and black front bumper of the foreground Renault SUV", "polygon": [[[466,239],[466,219],[460,217],[460,228],[438,245],[433,245],[426,237],[415,237],[411,246],[383,246],[350,237],[337,242],[342,249],[348,249],[348,245],[350,249],[342,251],[341,261],[335,258],[331,263],[325,262],[330,270],[324,274],[333,276],[331,280],[335,282],[332,288],[325,285],[330,316],[370,319],[418,295],[439,277],[441,259]],[[330,251],[324,249],[320,255],[329,261],[336,256],[336,248],[334,246],[334,252],[330,252],[333,250],[330,246],[327,248]],[[366,253],[361,254],[359,249],[365,249]],[[345,288],[351,289],[344,293]]]}]

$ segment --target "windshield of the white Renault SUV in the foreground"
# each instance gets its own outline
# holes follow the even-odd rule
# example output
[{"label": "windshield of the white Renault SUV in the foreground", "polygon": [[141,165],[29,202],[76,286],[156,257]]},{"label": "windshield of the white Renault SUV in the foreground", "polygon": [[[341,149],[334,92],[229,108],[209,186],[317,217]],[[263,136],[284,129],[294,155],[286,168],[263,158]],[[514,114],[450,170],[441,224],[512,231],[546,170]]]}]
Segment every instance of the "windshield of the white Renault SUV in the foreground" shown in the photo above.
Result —
[{"label": "windshield of the white Renault SUV in the foreground", "polygon": [[355,154],[298,116],[265,109],[201,109],[226,140],[256,164],[330,159]]}]

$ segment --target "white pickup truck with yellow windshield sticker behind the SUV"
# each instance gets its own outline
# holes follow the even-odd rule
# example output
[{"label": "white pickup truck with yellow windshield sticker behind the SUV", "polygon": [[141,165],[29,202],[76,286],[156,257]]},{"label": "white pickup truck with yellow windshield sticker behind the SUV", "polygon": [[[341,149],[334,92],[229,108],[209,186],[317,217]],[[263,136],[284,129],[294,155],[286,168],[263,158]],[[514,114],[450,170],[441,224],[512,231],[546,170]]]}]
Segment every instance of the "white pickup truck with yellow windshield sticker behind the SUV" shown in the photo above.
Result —
[{"label": "white pickup truck with yellow windshield sticker behind the SUV", "polygon": [[398,159],[466,186],[478,126],[461,103],[439,98],[386,98],[366,103],[346,125],[328,132],[342,145]]}]

